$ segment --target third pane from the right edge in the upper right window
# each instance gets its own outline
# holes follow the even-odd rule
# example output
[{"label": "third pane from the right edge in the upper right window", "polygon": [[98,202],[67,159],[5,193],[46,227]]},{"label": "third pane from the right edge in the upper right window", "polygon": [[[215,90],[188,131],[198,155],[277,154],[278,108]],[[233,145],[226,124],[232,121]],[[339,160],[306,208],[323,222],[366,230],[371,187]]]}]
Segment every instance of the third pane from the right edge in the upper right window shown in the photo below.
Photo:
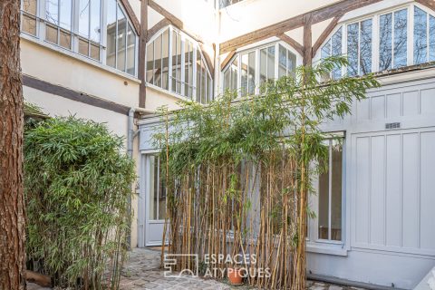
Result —
[{"label": "third pane from the right edge in the upper right window", "polygon": [[394,12],[394,68],[407,64],[408,9]]}]

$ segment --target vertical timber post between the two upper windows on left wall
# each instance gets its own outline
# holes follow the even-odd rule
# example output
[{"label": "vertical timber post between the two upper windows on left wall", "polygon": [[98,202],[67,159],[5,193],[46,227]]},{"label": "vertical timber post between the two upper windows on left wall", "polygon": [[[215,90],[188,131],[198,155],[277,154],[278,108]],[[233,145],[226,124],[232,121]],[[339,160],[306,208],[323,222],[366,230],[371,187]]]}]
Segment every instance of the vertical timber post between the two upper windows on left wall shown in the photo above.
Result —
[{"label": "vertical timber post between the two upper windows on left wall", "polygon": [[140,37],[139,37],[139,106],[145,108],[147,101],[147,86],[146,86],[146,73],[145,62],[147,61],[147,42],[148,42],[148,1],[140,1]]}]

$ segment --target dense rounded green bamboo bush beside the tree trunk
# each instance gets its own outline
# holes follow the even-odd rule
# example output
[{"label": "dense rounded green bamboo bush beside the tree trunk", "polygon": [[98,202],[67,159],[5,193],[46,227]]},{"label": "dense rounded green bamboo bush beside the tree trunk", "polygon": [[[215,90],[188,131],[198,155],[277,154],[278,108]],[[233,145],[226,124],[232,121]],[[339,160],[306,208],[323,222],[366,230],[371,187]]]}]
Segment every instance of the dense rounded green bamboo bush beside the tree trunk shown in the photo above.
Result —
[{"label": "dense rounded green bamboo bush beside the tree trunk", "polygon": [[135,179],[122,144],[73,116],[25,131],[27,256],[54,285],[118,288]]}]

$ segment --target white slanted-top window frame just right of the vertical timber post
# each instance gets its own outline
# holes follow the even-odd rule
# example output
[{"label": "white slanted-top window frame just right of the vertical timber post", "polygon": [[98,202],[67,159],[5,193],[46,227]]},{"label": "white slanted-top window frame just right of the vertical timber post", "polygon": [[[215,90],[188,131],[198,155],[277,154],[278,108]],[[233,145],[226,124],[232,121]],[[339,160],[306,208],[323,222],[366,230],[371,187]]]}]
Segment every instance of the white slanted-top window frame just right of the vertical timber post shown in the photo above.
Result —
[{"label": "white slanted-top window frame just right of the vertical timber post", "polygon": [[[206,92],[206,102],[210,102],[214,99],[214,79],[212,77],[212,74],[210,73],[210,69],[208,67],[208,63],[206,62],[206,58],[204,56],[204,53],[202,53],[198,42],[193,39],[192,37],[190,37],[188,34],[184,33],[183,31],[177,29],[176,27],[174,27],[173,25],[168,25],[165,26],[163,28],[161,28],[156,34],[152,35],[152,37],[150,37],[150,39],[148,40],[147,44],[146,44],[146,53],[147,55],[149,55],[149,45],[151,43],[153,43],[157,38],[160,37],[160,35],[162,35],[166,30],[169,30],[169,62],[168,62],[168,82],[169,82],[169,86],[168,89],[164,89],[163,87],[160,87],[158,85],[155,85],[153,83],[150,82],[146,82],[146,85],[153,88],[154,90],[160,91],[160,92],[165,92],[168,93],[179,98],[182,100],[189,100],[189,101],[195,101],[198,102],[198,98],[197,98],[197,91],[198,91],[198,68],[197,68],[197,62],[198,62],[198,56],[201,59],[201,62],[204,63],[204,67],[206,69],[206,88],[208,90],[208,80],[211,80],[211,90]],[[172,65],[172,61],[173,61],[173,57],[174,55],[172,54],[172,48],[173,48],[173,35],[175,34],[179,34],[180,35],[180,39],[181,39],[181,72],[180,72],[180,76],[179,79],[175,79],[172,76],[172,71],[173,71],[173,65]],[[187,83],[186,82],[186,40],[189,41],[189,43],[192,44],[192,50],[193,50],[193,57],[192,57],[192,83]],[[152,62],[155,63],[155,52],[153,51],[153,56],[152,56]],[[179,55],[179,54],[176,54]],[[148,72],[148,60],[145,61],[145,74]],[[176,90],[173,91],[172,90],[172,80],[176,80],[176,82],[180,83],[180,92],[177,92],[177,86],[176,86]],[[145,80],[146,81],[146,80]],[[191,88],[192,90],[192,97],[190,98],[188,96],[188,92],[185,92],[186,90],[186,85],[189,86],[189,88]]]}]

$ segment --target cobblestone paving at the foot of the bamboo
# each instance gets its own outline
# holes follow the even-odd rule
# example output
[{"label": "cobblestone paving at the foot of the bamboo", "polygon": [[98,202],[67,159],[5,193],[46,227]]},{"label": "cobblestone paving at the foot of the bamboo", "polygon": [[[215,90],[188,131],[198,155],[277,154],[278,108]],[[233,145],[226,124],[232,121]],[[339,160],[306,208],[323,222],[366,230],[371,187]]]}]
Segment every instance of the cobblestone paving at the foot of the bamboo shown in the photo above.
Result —
[{"label": "cobblestone paving at the foot of the bamboo", "polygon": [[[249,289],[247,286],[227,285],[213,279],[203,279],[191,275],[178,278],[164,277],[160,270],[160,251],[135,248],[129,253],[129,261],[121,276],[121,290],[142,289]],[[254,288],[253,288],[254,289]],[[256,288],[255,288],[256,289]],[[362,288],[329,285],[323,282],[307,282],[308,290],[363,290]]]}]

